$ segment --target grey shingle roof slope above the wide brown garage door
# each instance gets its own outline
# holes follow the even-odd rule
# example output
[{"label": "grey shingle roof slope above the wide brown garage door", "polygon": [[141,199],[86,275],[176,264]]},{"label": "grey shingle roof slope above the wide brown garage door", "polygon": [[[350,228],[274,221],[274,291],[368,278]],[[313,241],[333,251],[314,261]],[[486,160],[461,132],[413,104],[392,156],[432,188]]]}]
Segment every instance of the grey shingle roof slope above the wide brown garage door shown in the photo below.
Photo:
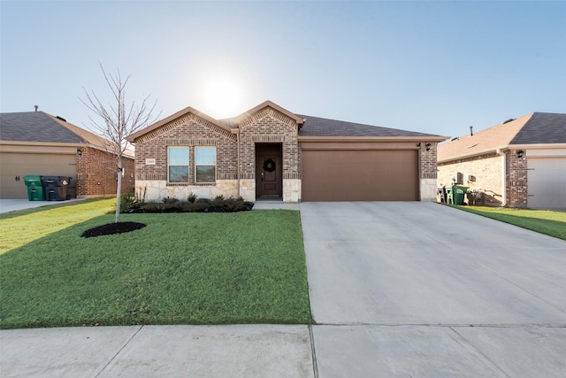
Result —
[{"label": "grey shingle roof slope above the wide brown garage door", "polygon": [[297,115],[306,119],[301,130],[299,130],[300,136],[438,136],[342,120],[327,120],[302,114]]}]

